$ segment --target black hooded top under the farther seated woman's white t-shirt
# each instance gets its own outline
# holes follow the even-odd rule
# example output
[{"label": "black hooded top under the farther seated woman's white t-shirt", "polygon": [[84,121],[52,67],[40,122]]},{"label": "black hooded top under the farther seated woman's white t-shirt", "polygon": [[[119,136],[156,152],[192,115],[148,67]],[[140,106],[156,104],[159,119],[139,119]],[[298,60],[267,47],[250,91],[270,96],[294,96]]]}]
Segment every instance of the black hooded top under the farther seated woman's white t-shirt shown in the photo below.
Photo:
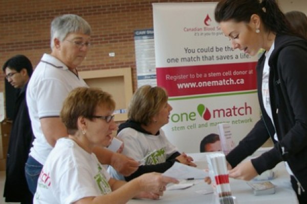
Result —
[{"label": "black hooded top under the farther seated woman's white t-shirt", "polygon": [[[118,133],[127,128],[130,127],[136,131],[139,131],[141,133],[145,133],[148,135],[152,135],[151,133],[147,132],[144,130],[141,126],[140,123],[132,121],[132,120],[127,120],[126,122],[122,123],[119,125]],[[159,132],[157,133],[159,135]],[[155,165],[141,165],[139,166],[138,170],[136,170],[133,174],[126,176],[125,180],[130,181],[135,179],[136,177],[144,174],[144,173],[149,173],[149,172],[160,172],[163,173],[167,169],[169,169],[175,162],[179,162],[176,157],[180,156],[180,153],[178,151],[174,152],[169,158],[166,159],[165,162],[160,163],[160,164],[155,164]]]}]

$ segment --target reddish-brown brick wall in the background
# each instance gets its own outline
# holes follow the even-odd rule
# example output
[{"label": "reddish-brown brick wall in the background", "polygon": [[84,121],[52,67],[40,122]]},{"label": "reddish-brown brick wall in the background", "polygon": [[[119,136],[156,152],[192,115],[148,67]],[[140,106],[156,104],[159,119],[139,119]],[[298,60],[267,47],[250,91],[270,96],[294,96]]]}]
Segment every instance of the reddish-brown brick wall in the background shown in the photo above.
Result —
[{"label": "reddish-brown brick wall in the background", "polygon": [[[136,89],[134,31],[153,27],[152,3],[215,1],[147,0],[9,0],[1,1],[0,66],[17,54],[26,55],[35,67],[43,53],[50,53],[50,23],[55,16],[74,13],[92,27],[93,46],[78,70],[131,67]],[[114,52],[115,57],[108,53]],[[0,74],[0,92],[4,73]]]}]

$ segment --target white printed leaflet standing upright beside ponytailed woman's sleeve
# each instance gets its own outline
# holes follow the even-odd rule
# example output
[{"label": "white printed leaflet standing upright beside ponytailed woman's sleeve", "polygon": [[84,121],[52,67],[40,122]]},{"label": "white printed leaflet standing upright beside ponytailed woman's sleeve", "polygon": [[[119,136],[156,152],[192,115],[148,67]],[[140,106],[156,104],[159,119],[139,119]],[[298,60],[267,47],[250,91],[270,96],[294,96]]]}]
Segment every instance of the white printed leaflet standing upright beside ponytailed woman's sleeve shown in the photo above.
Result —
[{"label": "white printed leaflet standing upright beside ponytailed woman's sleeve", "polygon": [[220,135],[221,147],[225,155],[227,155],[234,147],[235,144],[232,139],[230,124],[220,123],[217,124],[217,131]]}]

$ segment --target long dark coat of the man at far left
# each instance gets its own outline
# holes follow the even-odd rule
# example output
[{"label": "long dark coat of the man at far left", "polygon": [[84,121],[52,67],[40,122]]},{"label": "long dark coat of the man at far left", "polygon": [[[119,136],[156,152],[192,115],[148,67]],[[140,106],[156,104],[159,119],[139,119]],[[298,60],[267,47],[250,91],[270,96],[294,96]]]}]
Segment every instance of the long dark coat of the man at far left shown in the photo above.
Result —
[{"label": "long dark coat of the man at far left", "polygon": [[26,104],[27,85],[17,92],[16,107],[10,134],[4,197],[6,202],[31,203],[33,195],[28,189],[25,163],[32,144],[31,121]]}]

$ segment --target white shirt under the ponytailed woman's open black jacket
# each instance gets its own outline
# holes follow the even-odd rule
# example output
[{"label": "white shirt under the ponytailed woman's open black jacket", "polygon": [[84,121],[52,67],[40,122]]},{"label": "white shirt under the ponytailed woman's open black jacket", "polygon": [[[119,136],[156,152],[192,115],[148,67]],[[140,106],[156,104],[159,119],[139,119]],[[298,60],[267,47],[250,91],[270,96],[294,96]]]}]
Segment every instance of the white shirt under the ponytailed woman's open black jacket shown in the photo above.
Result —
[{"label": "white shirt under the ponytailed woman's open black jacket", "polygon": [[[271,98],[270,98],[270,89],[269,89],[269,77],[270,77],[270,66],[269,66],[269,59],[271,57],[271,54],[274,50],[275,44],[273,42],[271,48],[269,51],[265,54],[266,55],[266,61],[264,66],[264,71],[262,72],[262,100],[264,102],[264,106],[266,109],[267,114],[271,118],[271,121],[274,125],[273,116],[272,116],[272,109],[271,109]],[[278,137],[275,131],[274,139],[278,141]],[[293,175],[292,170],[290,169],[290,166],[287,162],[285,162],[286,169],[290,175]]]}]

